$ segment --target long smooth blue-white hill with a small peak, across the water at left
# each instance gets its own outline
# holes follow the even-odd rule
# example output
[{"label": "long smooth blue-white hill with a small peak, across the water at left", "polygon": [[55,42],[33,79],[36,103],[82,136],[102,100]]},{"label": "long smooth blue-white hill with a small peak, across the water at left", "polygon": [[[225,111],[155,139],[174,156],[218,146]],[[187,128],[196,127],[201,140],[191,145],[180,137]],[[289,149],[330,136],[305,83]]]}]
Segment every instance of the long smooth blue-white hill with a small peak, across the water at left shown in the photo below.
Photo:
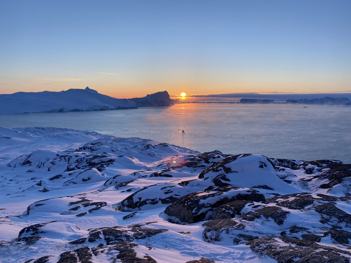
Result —
[{"label": "long smooth blue-white hill with a small peak, across the water at left", "polygon": [[116,99],[96,90],[68,89],[60,92],[16,92],[0,95],[0,113],[69,112],[138,108],[137,103]]}]

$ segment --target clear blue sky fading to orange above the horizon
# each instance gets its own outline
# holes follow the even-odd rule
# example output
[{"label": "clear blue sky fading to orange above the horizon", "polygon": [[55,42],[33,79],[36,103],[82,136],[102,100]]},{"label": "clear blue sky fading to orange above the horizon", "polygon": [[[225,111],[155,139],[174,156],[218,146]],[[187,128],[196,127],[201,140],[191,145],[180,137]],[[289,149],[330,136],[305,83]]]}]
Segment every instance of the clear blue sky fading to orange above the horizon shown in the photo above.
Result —
[{"label": "clear blue sky fading to orange above the horizon", "polygon": [[0,94],[351,92],[351,1],[0,1]]}]

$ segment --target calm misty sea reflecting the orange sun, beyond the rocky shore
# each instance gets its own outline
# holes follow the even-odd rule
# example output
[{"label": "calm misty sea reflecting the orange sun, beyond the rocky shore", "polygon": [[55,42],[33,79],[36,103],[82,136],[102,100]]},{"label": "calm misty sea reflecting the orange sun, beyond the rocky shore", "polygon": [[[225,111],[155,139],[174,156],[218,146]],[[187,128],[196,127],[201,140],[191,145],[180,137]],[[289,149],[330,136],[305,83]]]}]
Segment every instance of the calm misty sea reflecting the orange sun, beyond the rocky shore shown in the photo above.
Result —
[{"label": "calm misty sea reflecting the orange sun, beyond the rocky shore", "polygon": [[351,163],[351,108],[346,106],[201,103],[96,112],[0,114],[0,126],[72,128],[152,139],[201,152],[220,150],[227,154]]}]

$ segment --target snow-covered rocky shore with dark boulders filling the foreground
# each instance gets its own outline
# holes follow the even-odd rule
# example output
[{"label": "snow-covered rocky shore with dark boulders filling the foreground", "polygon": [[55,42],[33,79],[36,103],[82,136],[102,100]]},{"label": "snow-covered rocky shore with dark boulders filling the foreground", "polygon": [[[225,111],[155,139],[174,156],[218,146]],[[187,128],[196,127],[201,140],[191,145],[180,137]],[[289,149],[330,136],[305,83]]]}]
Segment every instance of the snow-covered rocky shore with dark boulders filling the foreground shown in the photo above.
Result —
[{"label": "snow-covered rocky shore with dark boulders filling the foreground", "polygon": [[0,135],[3,262],[350,262],[350,164]]}]

